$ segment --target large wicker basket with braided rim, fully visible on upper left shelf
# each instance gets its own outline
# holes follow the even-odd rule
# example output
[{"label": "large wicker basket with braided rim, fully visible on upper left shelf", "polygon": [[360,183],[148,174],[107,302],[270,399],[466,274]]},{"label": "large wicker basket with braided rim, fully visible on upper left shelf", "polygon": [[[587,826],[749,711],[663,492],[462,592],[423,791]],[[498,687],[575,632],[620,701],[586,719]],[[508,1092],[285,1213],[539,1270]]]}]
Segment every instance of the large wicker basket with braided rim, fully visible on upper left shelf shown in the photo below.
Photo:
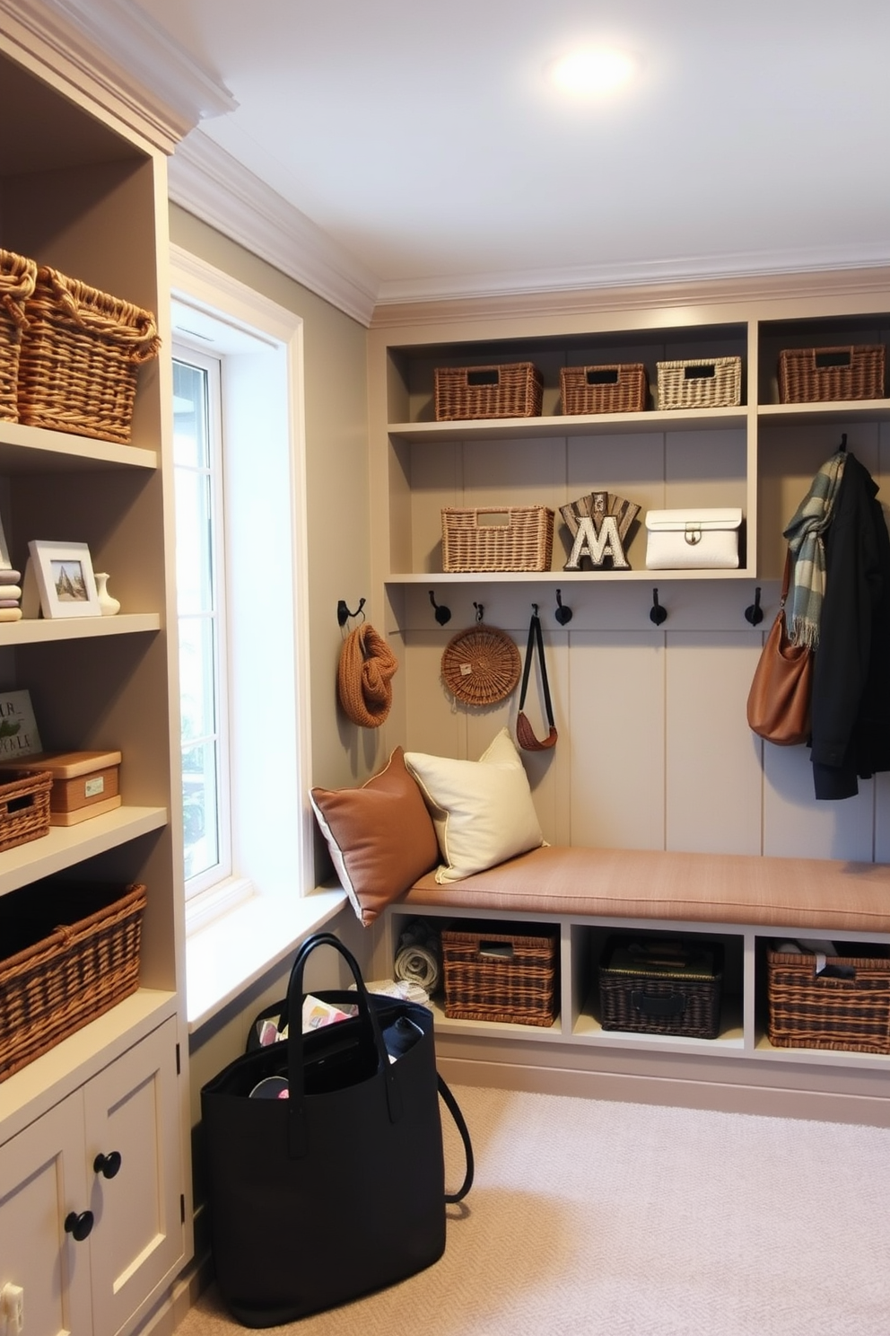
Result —
[{"label": "large wicker basket with braided rim, fully visible on upper left shelf", "polygon": [[151,311],[41,267],[25,315],[19,421],[127,445],[139,367],[160,349]]}]

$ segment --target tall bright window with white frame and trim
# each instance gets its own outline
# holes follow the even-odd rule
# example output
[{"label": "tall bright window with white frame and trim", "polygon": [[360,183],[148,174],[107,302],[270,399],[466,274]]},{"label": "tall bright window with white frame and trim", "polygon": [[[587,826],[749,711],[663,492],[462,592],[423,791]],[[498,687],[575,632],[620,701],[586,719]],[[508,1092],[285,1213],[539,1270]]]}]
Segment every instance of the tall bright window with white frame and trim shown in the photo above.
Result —
[{"label": "tall bright window with white frame and trim", "polygon": [[173,251],[187,930],[314,887],[302,323]]}]

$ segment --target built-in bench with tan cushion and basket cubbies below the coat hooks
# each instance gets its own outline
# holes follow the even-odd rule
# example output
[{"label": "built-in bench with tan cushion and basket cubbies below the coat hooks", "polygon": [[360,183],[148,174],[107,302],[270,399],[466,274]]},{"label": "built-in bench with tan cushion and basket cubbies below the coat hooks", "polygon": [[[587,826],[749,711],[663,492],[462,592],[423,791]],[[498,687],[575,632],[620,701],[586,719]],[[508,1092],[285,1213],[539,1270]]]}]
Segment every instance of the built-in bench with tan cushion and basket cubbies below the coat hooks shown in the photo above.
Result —
[{"label": "built-in bench with tan cushion and basket cubbies below the coat hooks", "polygon": [[[552,1027],[455,1021],[436,1010],[454,1081],[890,1126],[890,1057],[774,1047],[766,1034],[775,938],[890,946],[890,867],[842,860],[544,846],[463,880],[420,878],[384,915],[391,967],[412,916],[559,927]],[[725,947],[715,1039],[604,1030],[596,962],[616,931],[701,935]]]}]

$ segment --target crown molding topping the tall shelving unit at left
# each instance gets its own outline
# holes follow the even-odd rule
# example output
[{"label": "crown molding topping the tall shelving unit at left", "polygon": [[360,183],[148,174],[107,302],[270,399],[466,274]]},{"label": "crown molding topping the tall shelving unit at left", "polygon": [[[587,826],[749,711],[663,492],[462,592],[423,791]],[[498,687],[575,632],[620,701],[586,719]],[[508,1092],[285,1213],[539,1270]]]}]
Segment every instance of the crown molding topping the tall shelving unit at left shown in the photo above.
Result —
[{"label": "crown molding topping the tall shelving unit at left", "polygon": [[0,0],[0,29],[169,154],[207,116],[238,103],[131,0]]}]

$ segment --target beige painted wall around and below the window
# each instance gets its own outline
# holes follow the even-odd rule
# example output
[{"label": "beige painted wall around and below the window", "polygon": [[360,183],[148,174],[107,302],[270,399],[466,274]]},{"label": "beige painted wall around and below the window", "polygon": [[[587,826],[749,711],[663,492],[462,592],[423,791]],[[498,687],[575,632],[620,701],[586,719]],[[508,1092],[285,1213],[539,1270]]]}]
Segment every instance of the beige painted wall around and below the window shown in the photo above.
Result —
[{"label": "beige painted wall around and below the window", "polygon": [[[342,644],[336,604],[359,599],[371,607],[366,330],[242,246],[171,206],[171,240],[303,319],[306,460],[308,517],[308,635],[312,700],[312,780],[324,786],[362,780],[376,763],[380,740],[355,743],[358,729],[336,707],[335,675]],[[262,534],[258,534],[258,548]],[[327,868],[319,859],[319,868]],[[364,957],[370,934],[352,911],[331,925]],[[336,987],[332,953],[310,971],[310,987]],[[363,961],[364,963],[364,961]],[[291,961],[271,969],[235,1003],[191,1038],[192,1126],[200,1122],[200,1088],[243,1051],[252,1018],[283,997]],[[203,1201],[200,1146],[196,1145],[196,1202]],[[200,1240],[199,1240],[200,1253]]]}]

